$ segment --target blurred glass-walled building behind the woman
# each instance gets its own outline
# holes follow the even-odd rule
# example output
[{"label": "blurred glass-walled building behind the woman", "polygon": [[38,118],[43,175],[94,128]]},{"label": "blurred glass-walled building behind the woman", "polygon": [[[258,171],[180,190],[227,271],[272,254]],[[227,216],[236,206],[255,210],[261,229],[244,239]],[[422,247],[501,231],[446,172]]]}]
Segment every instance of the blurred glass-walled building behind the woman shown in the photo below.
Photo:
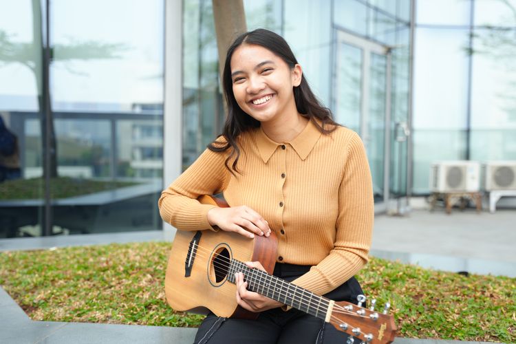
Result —
[{"label": "blurred glass-walled building behind the woman", "polygon": [[[516,160],[516,0],[244,8],[363,138],[378,213],[428,195],[434,160]],[[0,0],[0,116],[0,237],[162,228],[160,191],[224,122],[212,1]]]}]

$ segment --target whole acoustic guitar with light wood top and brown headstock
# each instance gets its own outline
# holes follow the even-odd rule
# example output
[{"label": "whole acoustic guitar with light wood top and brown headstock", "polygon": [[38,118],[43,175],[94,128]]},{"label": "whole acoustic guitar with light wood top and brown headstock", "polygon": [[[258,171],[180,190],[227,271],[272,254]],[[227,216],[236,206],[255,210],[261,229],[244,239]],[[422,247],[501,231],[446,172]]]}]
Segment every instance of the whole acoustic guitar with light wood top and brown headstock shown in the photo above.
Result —
[{"label": "whole acoustic guitar with light wood top and brown headstock", "polygon": [[[226,202],[200,197],[204,204],[228,206]],[[365,296],[359,295],[358,305],[332,301],[306,289],[272,276],[275,266],[277,237],[255,235],[246,238],[235,232],[219,230],[178,230],[172,244],[165,276],[165,294],[169,305],[178,311],[217,316],[256,319],[237,304],[235,273],[243,272],[248,290],[292,306],[316,318],[331,323],[337,330],[365,343],[391,343],[396,335],[394,316],[363,308]],[[266,271],[248,268],[244,261],[259,261]]]}]

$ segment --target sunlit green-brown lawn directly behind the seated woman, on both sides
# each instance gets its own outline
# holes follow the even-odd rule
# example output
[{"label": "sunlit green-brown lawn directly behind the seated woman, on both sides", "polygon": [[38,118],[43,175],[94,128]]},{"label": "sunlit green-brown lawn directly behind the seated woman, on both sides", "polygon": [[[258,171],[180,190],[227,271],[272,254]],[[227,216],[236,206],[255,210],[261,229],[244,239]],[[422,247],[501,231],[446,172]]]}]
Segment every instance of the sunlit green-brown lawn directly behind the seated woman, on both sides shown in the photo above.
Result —
[{"label": "sunlit green-brown lawn directly behind the seated woman, on both sides", "polygon": [[[0,285],[34,320],[195,327],[164,299],[169,243],[0,253]],[[516,279],[372,259],[367,297],[391,301],[398,336],[516,342]]]}]

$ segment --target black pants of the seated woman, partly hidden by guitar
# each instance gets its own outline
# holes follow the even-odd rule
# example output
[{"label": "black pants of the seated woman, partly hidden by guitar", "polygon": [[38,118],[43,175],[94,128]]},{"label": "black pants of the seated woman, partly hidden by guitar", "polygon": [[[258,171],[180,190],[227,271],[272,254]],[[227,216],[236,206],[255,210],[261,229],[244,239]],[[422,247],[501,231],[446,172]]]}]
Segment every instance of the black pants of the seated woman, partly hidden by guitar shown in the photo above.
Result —
[{"label": "black pants of the seated woman, partly hidden by guitar", "polygon": [[[310,270],[310,266],[276,264],[274,275],[292,281]],[[335,301],[356,303],[363,294],[354,277],[324,296]],[[299,310],[285,312],[275,308],[261,312],[256,320],[228,319],[211,313],[202,322],[195,344],[330,344],[345,343],[347,334],[337,331],[330,323]]]}]

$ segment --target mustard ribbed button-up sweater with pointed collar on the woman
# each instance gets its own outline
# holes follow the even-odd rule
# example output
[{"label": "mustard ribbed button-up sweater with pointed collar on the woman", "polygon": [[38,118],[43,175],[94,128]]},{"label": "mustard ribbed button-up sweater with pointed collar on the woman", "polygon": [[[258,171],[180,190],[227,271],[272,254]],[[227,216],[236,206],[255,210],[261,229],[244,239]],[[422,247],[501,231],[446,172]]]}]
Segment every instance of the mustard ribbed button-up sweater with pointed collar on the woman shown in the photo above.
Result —
[{"label": "mustard ribbed button-up sweater with pointed collar on the woman", "polygon": [[374,200],[367,156],[345,127],[321,133],[309,121],[290,142],[274,142],[261,128],[241,133],[237,169],[228,153],[206,149],[166,190],[162,219],[179,230],[213,229],[200,195],[224,193],[230,206],[246,205],[278,237],[277,262],[312,266],[292,281],[325,294],[350,279],[368,259]]}]

